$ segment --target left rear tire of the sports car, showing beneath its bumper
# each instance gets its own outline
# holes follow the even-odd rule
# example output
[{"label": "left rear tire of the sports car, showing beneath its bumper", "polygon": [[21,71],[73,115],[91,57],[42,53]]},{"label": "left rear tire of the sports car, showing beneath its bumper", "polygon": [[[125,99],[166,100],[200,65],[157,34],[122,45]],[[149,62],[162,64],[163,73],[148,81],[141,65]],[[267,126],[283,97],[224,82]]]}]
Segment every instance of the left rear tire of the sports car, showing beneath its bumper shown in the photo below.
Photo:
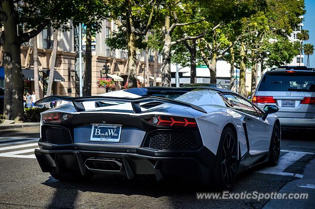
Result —
[{"label": "left rear tire of the sports car, showing beneath its bumper", "polygon": [[57,180],[61,181],[84,181],[91,180],[93,178],[93,174],[81,175],[79,172],[58,172],[57,169],[49,172],[50,175]]}]

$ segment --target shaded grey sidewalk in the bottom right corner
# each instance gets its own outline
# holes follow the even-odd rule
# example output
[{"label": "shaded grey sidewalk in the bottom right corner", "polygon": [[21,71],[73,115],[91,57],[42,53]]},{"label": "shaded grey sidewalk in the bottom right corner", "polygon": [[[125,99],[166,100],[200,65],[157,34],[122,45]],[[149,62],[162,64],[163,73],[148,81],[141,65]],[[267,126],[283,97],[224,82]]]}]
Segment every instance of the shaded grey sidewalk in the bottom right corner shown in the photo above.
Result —
[{"label": "shaded grey sidewalk in the bottom right corner", "polygon": [[270,200],[263,209],[314,209],[315,159],[305,167],[303,178],[288,182],[278,193],[308,193],[308,199]]}]

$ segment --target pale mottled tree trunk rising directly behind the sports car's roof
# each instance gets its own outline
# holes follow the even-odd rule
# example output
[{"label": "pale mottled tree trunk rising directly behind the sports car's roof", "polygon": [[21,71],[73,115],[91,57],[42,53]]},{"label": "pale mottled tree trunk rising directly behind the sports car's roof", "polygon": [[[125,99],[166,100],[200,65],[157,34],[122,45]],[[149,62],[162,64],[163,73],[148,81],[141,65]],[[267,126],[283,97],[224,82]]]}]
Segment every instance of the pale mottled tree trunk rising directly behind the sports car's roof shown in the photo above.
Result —
[{"label": "pale mottled tree trunk rising directly behind the sports car's roof", "polygon": [[162,86],[170,87],[171,83],[171,34],[170,16],[165,16],[164,39],[163,39],[163,61],[162,61]]}]

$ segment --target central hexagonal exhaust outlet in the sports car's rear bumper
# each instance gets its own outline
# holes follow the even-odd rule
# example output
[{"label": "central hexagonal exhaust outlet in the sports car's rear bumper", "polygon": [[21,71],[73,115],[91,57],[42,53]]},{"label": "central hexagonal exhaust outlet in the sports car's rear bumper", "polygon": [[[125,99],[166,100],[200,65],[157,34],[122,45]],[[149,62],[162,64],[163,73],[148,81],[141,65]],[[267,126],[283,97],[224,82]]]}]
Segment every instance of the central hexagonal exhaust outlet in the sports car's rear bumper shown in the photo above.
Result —
[{"label": "central hexagonal exhaust outlet in the sports car's rear bumper", "polygon": [[117,160],[89,158],[85,161],[85,166],[90,171],[101,173],[120,173],[123,170],[123,164]]}]

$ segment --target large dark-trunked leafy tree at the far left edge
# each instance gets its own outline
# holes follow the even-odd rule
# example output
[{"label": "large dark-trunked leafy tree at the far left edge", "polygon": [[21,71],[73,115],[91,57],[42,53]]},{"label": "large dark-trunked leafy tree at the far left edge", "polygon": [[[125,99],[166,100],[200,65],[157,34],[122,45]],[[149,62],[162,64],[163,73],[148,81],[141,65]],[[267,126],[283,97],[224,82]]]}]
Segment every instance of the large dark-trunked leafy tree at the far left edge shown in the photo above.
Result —
[{"label": "large dark-trunked leafy tree at the far left edge", "polygon": [[[4,27],[0,44],[4,50],[6,119],[19,121],[24,118],[21,44],[36,36],[48,24],[54,29],[68,29],[66,24],[73,15],[75,5],[73,1],[62,0],[0,0],[0,24]],[[18,35],[17,25],[23,25],[25,32]]]}]

